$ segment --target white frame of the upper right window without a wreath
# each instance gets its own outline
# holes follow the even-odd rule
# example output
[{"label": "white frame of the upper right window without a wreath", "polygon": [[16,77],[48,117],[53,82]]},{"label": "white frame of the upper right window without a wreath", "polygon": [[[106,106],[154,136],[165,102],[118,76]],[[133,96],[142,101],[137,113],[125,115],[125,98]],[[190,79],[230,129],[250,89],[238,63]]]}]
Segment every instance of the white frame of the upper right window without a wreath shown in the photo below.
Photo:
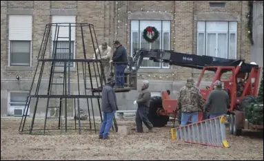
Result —
[{"label": "white frame of the upper right window without a wreath", "polygon": [[[198,23],[199,22],[203,22],[205,23],[205,30],[201,31],[198,29]],[[227,32],[223,32],[223,31],[210,31],[207,32],[206,30],[206,23],[207,22],[227,22]],[[236,23],[236,31],[232,31],[230,30],[230,23],[235,22]],[[196,21],[196,54],[197,55],[207,55],[207,34],[211,33],[211,34],[216,34],[216,47],[218,47],[217,45],[217,38],[218,38],[218,34],[227,34],[227,58],[230,59],[230,34],[235,34],[235,58],[237,58],[237,43],[238,43],[238,31],[237,31],[237,21]],[[199,54],[199,34],[203,34],[203,54]],[[217,56],[217,53],[215,54],[215,56]],[[233,58],[232,58],[233,59]]]}]

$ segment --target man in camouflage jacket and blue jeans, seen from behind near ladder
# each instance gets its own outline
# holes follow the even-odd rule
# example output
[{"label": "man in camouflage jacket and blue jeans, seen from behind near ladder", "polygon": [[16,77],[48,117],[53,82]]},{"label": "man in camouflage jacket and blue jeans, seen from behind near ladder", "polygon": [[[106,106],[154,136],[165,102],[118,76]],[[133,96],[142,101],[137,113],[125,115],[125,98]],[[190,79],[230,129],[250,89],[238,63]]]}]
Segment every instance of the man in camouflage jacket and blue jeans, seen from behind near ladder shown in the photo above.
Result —
[{"label": "man in camouflage jacket and blue jeans, seen from behind near ladder", "polygon": [[187,125],[191,118],[192,123],[198,122],[199,111],[204,111],[204,100],[198,88],[194,87],[194,80],[187,79],[186,85],[181,88],[178,100],[181,110],[181,126]]}]

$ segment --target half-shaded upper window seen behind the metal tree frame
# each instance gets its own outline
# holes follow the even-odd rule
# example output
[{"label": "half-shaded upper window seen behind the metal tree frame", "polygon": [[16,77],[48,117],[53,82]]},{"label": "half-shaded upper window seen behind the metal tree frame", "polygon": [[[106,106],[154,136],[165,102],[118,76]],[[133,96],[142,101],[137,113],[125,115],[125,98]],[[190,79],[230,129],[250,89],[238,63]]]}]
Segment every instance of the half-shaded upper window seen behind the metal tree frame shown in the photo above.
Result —
[{"label": "half-shaded upper window seen behind the metal tree frame", "polygon": [[[50,56],[54,56],[56,53],[56,58],[60,59],[68,59],[69,54],[70,58],[74,59],[74,51],[75,51],[75,27],[71,27],[71,41],[69,41],[69,24],[75,23],[75,16],[52,16],[52,23],[64,23],[59,24],[59,33],[55,37],[56,26],[52,26],[52,54]],[[57,28],[58,30],[58,28]],[[58,41],[55,41],[58,40]],[[56,43],[57,42],[57,43]],[[71,44],[71,46],[69,45]],[[56,47],[56,50],[54,50]],[[68,65],[68,63],[66,63]],[[55,63],[56,67],[63,67],[63,62]],[[70,67],[74,67],[74,63],[70,63]]]}]

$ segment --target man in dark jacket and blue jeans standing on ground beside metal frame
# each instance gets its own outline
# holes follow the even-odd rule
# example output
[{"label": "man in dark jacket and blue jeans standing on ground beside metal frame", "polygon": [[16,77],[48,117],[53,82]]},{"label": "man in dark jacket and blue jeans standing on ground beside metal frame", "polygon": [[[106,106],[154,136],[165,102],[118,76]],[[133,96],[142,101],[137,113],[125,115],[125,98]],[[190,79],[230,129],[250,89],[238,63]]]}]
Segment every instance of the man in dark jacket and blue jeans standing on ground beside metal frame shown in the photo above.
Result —
[{"label": "man in dark jacket and blue jeans standing on ground beside metal frame", "polygon": [[102,90],[102,111],[103,122],[99,131],[99,139],[108,139],[109,131],[112,127],[114,114],[118,107],[116,105],[116,94],[114,92],[115,81],[114,78],[108,77],[106,85]]}]

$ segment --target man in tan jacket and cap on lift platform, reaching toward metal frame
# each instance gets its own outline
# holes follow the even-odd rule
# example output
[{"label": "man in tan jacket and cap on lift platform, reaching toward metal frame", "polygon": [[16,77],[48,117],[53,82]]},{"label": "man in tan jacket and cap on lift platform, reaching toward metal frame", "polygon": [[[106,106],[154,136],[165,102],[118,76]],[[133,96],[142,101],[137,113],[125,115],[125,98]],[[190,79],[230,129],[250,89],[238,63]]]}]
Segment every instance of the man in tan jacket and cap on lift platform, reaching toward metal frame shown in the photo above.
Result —
[{"label": "man in tan jacket and cap on lift platform, reaching toward metal frame", "polygon": [[[97,50],[95,51],[94,54],[94,59],[100,59],[100,54],[101,54],[101,60],[102,60],[102,70],[105,74],[105,76],[110,76],[110,59],[112,57],[112,48],[110,46],[108,46],[108,43],[102,43],[101,45],[99,45],[99,47],[97,48]],[[97,57],[96,57],[97,56]],[[102,71],[101,71],[102,73]],[[103,75],[101,75],[101,80],[103,80]]]}]

